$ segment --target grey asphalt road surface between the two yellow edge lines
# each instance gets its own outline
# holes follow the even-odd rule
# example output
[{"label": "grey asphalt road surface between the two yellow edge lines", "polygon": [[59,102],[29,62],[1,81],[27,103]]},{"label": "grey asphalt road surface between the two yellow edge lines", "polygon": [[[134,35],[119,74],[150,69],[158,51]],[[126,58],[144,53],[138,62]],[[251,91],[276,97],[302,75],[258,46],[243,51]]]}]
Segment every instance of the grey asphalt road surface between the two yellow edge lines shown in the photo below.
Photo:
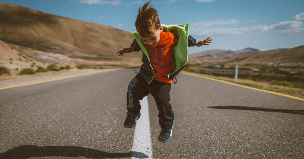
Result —
[{"label": "grey asphalt road surface between the two yellow edge lines", "polygon": [[[135,75],[119,69],[0,90],[0,158],[131,158],[135,130],[123,122]],[[157,140],[148,96],[153,158],[304,158],[304,101],[182,73],[177,80],[168,143]]]}]

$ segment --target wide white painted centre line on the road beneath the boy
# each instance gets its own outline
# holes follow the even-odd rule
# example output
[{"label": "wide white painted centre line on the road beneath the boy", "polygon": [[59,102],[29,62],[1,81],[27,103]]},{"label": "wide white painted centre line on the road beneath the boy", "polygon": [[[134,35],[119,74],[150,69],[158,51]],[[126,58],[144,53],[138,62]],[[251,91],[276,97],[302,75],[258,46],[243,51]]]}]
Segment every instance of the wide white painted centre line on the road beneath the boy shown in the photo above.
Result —
[{"label": "wide white painted centre line on the road beneath the boy", "polygon": [[[136,121],[132,158],[153,158],[148,98],[140,100],[140,118]],[[147,157],[148,156],[148,157]]]}]

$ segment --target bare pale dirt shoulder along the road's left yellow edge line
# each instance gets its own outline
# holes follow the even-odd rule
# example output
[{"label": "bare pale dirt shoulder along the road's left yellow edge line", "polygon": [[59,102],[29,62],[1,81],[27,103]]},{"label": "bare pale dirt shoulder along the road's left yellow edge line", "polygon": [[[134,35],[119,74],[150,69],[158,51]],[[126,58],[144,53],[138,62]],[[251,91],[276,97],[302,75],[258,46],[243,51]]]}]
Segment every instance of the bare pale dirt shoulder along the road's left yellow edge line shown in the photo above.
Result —
[{"label": "bare pale dirt shoulder along the road's left yellow edge line", "polygon": [[44,73],[36,73],[33,75],[2,75],[0,76],[0,89],[16,85],[24,85],[34,82],[47,81],[57,78],[64,78],[85,73],[105,72],[113,69],[71,69],[61,71],[49,71]]}]

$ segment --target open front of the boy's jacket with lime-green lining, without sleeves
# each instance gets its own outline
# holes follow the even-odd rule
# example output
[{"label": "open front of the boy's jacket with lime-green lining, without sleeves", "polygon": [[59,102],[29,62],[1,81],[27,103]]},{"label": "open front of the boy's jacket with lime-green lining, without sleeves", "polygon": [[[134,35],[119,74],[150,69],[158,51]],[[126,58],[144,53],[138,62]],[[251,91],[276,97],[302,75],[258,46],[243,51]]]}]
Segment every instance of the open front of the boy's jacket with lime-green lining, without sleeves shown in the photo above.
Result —
[{"label": "open front of the boy's jacket with lime-green lining, without sleeves", "polygon": [[[170,79],[174,79],[174,77],[184,68],[185,64],[188,61],[188,31],[189,24],[187,25],[164,25],[163,32],[170,32],[178,36],[178,42],[176,45],[172,45],[172,70],[171,74],[167,74],[167,77]],[[140,46],[143,51],[143,65],[140,69],[140,74],[143,75],[143,78],[150,84],[150,82],[154,78],[153,67],[151,66],[151,61],[149,58],[148,51],[141,41],[141,38],[137,31],[133,32],[133,36],[136,39],[136,42]],[[144,57],[146,56],[146,57]],[[148,59],[148,60],[147,60]],[[147,68],[150,67],[150,68]],[[151,71],[152,70],[152,71]],[[153,74],[152,74],[153,72]]]}]

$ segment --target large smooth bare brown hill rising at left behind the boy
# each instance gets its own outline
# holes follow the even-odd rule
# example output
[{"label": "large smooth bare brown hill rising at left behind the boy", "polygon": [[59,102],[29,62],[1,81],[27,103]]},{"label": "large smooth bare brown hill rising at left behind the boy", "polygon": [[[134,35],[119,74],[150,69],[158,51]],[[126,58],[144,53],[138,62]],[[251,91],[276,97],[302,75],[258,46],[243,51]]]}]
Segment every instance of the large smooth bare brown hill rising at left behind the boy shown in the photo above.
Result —
[{"label": "large smooth bare brown hill rising at left behind the boy", "polygon": [[[130,47],[134,39],[132,33],[111,26],[5,3],[0,3],[0,21],[2,41],[59,47],[74,57],[118,58],[118,48]],[[127,57],[140,58],[141,53]]]}]

